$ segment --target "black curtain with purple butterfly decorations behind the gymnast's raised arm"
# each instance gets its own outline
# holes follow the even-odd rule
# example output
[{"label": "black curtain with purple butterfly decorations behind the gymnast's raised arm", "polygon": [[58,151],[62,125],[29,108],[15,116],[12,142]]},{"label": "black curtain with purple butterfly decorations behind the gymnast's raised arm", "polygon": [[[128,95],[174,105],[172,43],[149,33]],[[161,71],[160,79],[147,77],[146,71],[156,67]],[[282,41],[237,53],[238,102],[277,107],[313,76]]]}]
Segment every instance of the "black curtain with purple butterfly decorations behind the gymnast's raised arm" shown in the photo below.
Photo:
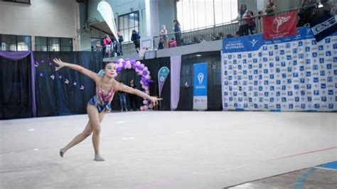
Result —
[{"label": "black curtain with purple butterfly decorations behind the gymnast's raised arm", "polygon": [[102,53],[35,52],[34,57],[39,63],[36,68],[37,116],[85,114],[87,102],[95,95],[95,82],[68,68],[55,72],[52,60],[60,58],[64,62],[75,63],[99,72],[102,69]]}]

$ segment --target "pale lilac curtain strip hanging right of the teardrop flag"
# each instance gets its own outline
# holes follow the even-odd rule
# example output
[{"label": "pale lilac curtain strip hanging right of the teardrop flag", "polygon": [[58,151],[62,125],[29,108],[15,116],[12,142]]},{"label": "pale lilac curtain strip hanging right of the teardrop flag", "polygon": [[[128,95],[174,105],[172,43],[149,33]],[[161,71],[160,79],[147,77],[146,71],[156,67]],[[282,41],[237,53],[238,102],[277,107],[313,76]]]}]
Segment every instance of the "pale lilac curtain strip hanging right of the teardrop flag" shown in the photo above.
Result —
[{"label": "pale lilac curtain strip hanging right of the teardrop flag", "polygon": [[171,56],[171,110],[178,107],[180,94],[181,55]]}]

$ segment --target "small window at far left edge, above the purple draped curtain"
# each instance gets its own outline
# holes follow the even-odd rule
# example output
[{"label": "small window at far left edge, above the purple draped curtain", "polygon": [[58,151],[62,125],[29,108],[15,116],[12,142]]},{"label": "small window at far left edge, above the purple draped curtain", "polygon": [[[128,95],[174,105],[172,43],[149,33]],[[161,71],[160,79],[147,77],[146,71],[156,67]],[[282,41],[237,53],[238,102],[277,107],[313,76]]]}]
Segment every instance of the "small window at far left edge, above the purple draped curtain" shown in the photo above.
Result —
[{"label": "small window at far left edge, above the purple draped curtain", "polygon": [[0,35],[0,50],[31,50],[31,36]]}]

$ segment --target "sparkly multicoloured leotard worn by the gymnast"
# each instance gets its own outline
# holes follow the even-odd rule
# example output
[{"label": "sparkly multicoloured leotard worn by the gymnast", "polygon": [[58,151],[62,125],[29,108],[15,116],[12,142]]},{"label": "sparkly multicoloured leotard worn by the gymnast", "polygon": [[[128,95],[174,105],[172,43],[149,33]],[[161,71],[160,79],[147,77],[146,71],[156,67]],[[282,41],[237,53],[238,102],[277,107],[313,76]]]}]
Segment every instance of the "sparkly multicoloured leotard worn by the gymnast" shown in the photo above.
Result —
[{"label": "sparkly multicoloured leotard worn by the gymnast", "polygon": [[96,87],[96,95],[88,103],[95,105],[98,112],[102,112],[105,109],[111,112],[112,97],[114,97],[114,87],[111,87],[107,93],[105,93],[102,87]]}]

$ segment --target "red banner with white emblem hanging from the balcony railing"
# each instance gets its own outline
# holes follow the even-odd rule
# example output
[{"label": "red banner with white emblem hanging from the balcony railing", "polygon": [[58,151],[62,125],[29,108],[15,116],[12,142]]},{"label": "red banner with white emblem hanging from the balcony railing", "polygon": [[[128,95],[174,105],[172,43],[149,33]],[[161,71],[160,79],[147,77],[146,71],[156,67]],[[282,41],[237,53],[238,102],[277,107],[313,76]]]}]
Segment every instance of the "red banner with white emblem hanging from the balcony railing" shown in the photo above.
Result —
[{"label": "red banner with white emblem hanging from the balcony railing", "polygon": [[296,11],[284,13],[280,16],[264,16],[264,40],[296,36]]}]

